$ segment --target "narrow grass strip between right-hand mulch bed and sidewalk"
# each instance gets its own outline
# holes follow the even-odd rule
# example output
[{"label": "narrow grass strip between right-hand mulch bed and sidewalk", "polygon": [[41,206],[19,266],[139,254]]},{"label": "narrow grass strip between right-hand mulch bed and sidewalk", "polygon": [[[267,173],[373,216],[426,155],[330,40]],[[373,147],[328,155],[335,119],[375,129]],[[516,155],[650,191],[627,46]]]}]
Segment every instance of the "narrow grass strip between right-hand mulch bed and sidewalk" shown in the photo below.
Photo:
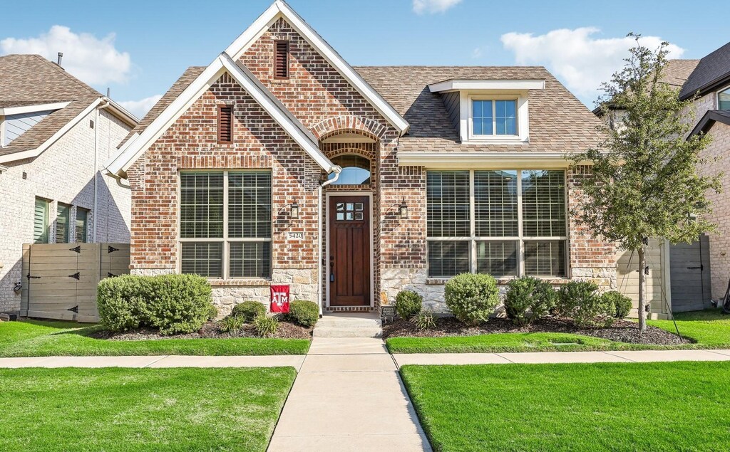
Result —
[{"label": "narrow grass strip between right-hand mulch bed and sidewalk", "polygon": [[[567,333],[495,333],[445,338],[388,338],[391,353],[499,353],[519,351],[647,350],[665,348],[730,348],[730,316],[721,311],[677,313],[680,334],[695,343],[682,346],[640,346]],[[649,324],[675,332],[671,320]]]}]

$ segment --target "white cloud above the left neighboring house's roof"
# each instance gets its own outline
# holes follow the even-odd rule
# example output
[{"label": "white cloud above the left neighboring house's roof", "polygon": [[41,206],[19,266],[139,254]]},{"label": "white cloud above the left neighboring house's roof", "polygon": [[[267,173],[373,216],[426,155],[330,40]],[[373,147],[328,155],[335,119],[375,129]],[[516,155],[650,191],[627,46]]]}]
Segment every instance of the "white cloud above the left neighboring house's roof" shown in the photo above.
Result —
[{"label": "white cloud above the left neighboring house's roof", "polygon": [[58,52],[63,52],[64,69],[89,85],[123,83],[131,71],[131,60],[128,52],[114,47],[114,39],[113,33],[98,39],[93,34],[76,34],[69,27],[55,25],[34,38],[2,39],[0,54],[37,53],[56,61]]}]

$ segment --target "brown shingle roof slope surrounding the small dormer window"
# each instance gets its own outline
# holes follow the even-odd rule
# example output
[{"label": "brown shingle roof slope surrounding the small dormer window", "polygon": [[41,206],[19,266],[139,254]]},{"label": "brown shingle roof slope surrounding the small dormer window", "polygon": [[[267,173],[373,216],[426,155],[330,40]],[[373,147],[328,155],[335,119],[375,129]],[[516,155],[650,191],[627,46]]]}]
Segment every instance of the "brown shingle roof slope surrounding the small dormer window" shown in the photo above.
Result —
[{"label": "brown shingle roof slope surrounding the small dormer window", "polygon": [[[358,66],[357,71],[409,122],[403,152],[585,152],[600,120],[542,66]],[[446,106],[429,85],[448,79],[545,80],[529,90],[529,144],[462,144]]]}]

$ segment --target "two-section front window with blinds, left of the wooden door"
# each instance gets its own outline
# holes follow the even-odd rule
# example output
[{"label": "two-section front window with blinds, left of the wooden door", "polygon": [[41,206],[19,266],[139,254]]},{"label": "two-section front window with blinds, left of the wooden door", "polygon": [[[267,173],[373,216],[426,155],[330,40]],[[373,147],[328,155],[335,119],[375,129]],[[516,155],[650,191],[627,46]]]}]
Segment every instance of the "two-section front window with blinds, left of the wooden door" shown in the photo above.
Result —
[{"label": "two-section front window with blinds, left of the wooden door", "polygon": [[268,171],[180,174],[180,270],[208,278],[271,276]]}]

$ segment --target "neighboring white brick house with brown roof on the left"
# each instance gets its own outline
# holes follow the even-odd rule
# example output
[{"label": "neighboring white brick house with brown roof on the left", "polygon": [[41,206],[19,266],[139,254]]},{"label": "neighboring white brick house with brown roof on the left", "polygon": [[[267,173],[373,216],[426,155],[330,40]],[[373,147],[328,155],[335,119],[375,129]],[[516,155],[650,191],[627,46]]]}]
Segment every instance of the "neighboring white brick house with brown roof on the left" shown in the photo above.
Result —
[{"label": "neighboring white brick house with brown roof on the left", "polygon": [[0,57],[0,311],[23,243],[128,242],[130,191],[101,174],[137,118],[39,55]]}]

